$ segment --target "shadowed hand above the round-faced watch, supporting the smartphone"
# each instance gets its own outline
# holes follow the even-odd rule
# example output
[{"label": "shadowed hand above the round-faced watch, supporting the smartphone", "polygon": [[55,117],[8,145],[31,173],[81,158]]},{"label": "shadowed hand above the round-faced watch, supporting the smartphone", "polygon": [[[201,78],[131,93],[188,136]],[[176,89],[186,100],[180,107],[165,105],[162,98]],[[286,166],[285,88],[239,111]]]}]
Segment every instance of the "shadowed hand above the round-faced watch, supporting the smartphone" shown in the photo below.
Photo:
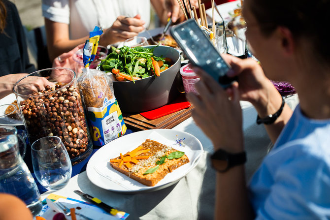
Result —
[{"label": "shadowed hand above the round-faced watch, supporting the smartphone", "polygon": [[188,94],[193,103],[196,124],[212,140],[215,150],[242,152],[242,113],[239,104],[238,83],[226,91],[206,72],[194,67],[200,81],[195,84],[199,93]]}]

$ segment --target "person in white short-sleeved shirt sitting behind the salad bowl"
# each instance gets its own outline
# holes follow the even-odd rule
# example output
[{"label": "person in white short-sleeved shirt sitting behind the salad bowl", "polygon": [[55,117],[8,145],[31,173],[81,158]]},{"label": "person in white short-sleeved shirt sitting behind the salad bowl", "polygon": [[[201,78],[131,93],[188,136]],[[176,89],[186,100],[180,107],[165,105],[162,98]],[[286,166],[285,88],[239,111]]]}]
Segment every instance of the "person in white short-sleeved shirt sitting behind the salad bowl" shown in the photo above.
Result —
[{"label": "person in white short-sleeved shirt sitting behind the salad bowl", "polygon": [[149,26],[150,2],[163,23],[182,14],[177,0],[42,0],[50,60],[84,43],[96,25],[104,29],[102,46],[136,36]]}]

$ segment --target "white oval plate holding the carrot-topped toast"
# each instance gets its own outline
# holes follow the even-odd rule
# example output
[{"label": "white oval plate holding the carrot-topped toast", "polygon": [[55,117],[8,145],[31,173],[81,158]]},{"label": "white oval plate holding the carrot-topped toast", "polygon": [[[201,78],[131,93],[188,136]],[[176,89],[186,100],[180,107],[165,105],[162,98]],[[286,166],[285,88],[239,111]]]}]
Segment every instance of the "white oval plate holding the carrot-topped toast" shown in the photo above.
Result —
[{"label": "white oval plate holding the carrot-topped toast", "polygon": [[[154,187],[145,186],[111,167],[109,162],[111,158],[118,157],[120,153],[132,151],[146,139],[152,139],[185,152],[190,162],[168,173]],[[180,146],[180,143],[183,146]],[[198,164],[202,152],[203,147],[200,141],[189,133],[171,129],[143,130],[122,136],[101,147],[88,161],[86,172],[89,180],[103,189],[123,193],[153,191],[169,187],[186,176]]]}]

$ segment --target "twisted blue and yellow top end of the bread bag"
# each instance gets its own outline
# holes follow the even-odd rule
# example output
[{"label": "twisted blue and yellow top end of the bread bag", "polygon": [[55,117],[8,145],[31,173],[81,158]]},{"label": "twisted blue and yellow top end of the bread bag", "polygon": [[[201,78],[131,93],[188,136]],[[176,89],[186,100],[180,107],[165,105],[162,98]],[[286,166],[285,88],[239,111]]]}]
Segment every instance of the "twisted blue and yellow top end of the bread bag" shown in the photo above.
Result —
[{"label": "twisted blue and yellow top end of the bread bag", "polygon": [[98,52],[99,36],[102,33],[103,31],[97,26],[95,26],[93,31],[89,32],[89,40],[86,40],[83,49],[83,62],[85,68],[87,68],[95,59],[96,53]]}]

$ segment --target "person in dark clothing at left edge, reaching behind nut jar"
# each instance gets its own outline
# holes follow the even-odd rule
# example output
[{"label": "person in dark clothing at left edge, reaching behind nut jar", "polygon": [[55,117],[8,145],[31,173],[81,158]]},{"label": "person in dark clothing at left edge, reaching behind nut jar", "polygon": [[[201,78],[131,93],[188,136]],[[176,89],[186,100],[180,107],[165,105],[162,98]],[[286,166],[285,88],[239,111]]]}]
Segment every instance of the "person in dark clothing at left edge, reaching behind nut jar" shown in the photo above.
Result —
[{"label": "person in dark clothing at left edge, reaching behind nut jar", "polygon": [[[12,93],[14,84],[35,71],[29,61],[23,26],[14,3],[0,0],[0,98]],[[44,78],[31,81],[31,85],[49,85]]]}]

